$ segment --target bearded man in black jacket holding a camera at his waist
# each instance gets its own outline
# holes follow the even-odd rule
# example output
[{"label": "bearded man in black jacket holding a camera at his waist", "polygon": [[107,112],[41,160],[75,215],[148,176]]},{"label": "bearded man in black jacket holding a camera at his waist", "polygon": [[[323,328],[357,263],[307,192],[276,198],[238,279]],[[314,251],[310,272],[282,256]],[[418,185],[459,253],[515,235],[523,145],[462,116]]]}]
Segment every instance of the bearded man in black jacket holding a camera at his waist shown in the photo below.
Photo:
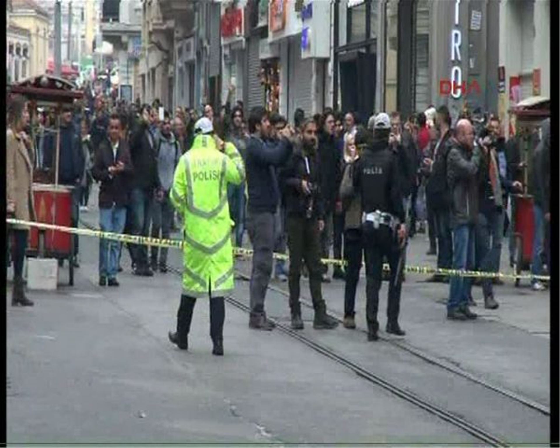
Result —
[{"label": "bearded man in black jacket holding a camera at his waist", "polygon": [[[332,116],[332,115],[330,115]],[[333,118],[334,128],[334,118]],[[320,192],[320,168],[316,162],[317,127],[307,119],[301,127],[300,146],[281,171],[286,192],[288,246],[290,248],[290,309],[292,328],[301,330],[301,262],[309,270],[309,288],[315,319],[313,328],[333,329],[337,321],[326,314],[321,295],[320,232],[324,230],[324,206]]]}]

